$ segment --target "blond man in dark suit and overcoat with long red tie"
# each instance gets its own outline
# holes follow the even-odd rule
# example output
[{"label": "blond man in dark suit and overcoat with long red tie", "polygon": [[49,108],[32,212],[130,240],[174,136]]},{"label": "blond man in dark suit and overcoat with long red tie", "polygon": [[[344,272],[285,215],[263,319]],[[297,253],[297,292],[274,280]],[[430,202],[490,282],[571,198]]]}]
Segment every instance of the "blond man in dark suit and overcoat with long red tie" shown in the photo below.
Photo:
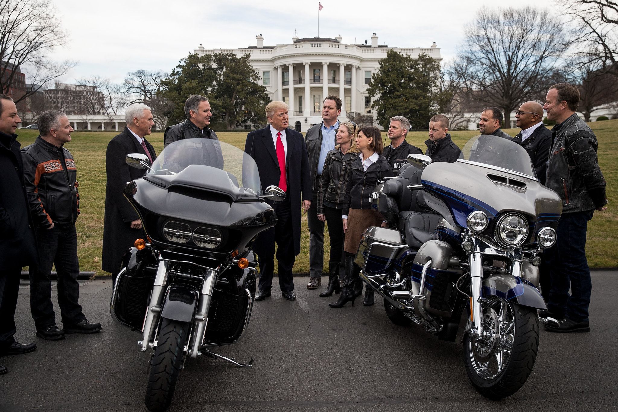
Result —
[{"label": "blond man in dark suit and overcoat with long red tie", "polygon": [[[295,300],[292,267],[300,253],[300,209],[307,212],[311,206],[311,174],[307,146],[301,133],[288,126],[287,104],[272,101],[266,106],[266,118],[270,125],[247,135],[245,152],[258,166],[262,190],[276,185],[286,191],[281,202],[268,201],[277,214],[277,225],[260,233],[253,242],[253,251],[260,264],[260,283],[255,300],[264,300],[271,295],[274,271],[274,243],[277,242],[279,263],[279,287],[284,298]],[[282,172],[283,170],[283,172]]]}]

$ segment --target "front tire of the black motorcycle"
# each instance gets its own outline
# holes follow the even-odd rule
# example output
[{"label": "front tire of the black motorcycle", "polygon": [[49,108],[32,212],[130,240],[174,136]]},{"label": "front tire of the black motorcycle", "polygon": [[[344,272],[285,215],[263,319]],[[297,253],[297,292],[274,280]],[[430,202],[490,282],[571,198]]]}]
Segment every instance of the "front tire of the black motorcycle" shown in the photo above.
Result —
[{"label": "front tire of the black motorcycle", "polygon": [[182,368],[182,356],[187,345],[187,322],[163,319],[158,336],[155,356],[151,360],[150,376],[144,403],[153,412],[163,412],[169,408],[174,397],[174,389]]}]

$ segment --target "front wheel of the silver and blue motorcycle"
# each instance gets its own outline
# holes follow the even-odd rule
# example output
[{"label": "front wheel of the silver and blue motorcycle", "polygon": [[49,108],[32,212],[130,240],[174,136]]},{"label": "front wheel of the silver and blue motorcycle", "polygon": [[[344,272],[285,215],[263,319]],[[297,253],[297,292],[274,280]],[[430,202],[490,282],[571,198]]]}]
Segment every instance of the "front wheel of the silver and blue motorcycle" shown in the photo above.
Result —
[{"label": "front wheel of the silver and blue motorcycle", "polygon": [[539,326],[536,309],[494,296],[481,311],[483,338],[464,339],[465,367],[476,390],[501,399],[517,392],[535,364]]}]

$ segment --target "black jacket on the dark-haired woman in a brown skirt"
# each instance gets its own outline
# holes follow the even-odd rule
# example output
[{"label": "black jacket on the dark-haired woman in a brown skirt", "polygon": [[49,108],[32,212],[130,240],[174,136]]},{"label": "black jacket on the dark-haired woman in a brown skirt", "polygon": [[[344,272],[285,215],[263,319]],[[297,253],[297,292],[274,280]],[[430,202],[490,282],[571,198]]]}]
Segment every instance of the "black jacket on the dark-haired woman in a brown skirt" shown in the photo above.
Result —
[{"label": "black jacket on the dark-haired woman in a brown skirt", "polygon": [[349,214],[350,209],[371,209],[369,196],[376,189],[379,180],[392,175],[391,165],[384,156],[380,155],[378,161],[371,164],[365,172],[360,156],[357,154],[352,162],[348,182],[345,185],[344,210],[342,214]]}]

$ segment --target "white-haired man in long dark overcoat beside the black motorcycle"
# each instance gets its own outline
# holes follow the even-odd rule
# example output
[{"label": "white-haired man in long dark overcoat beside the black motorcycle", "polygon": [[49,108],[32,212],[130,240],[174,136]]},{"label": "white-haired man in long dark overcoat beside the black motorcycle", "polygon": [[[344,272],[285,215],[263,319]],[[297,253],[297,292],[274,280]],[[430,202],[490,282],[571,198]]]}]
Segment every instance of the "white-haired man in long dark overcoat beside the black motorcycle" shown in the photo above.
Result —
[{"label": "white-haired man in long dark overcoat beside the black motorcycle", "polygon": [[105,191],[105,222],[103,225],[103,270],[111,272],[112,280],[120,271],[122,256],[133,246],[135,239],[146,238],[142,222],[133,206],[122,194],[131,180],[140,179],[147,169],[135,169],[125,162],[129,153],[156,159],[153,146],[146,141],[155,122],[150,107],[135,103],[125,111],[127,127],[108,144],[105,158],[108,183]]}]

